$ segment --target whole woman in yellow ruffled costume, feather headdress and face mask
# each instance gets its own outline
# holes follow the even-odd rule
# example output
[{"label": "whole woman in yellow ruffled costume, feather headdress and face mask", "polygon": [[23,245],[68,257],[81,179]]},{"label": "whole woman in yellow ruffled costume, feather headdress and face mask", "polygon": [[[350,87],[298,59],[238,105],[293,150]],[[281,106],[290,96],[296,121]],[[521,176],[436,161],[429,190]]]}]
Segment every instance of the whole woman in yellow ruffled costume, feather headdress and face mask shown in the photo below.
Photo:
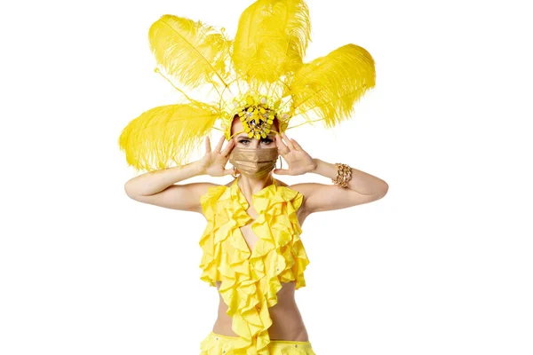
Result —
[{"label": "whole woman in yellow ruffled costume, feather headdress and face mask", "polygon": [[[147,110],[124,128],[119,145],[127,162],[147,170],[125,191],[206,218],[200,279],[219,290],[220,303],[202,355],[313,355],[294,299],[309,264],[301,225],[314,212],[376,201],[387,191],[378,177],[313,158],[285,134],[301,124],[332,128],[350,119],[355,102],[375,85],[374,59],[353,43],[305,63],[310,29],[304,0],[258,0],[241,14],[233,39],[174,15],[149,30],[157,63],[178,86],[159,67],[155,72],[181,100]],[[205,85],[210,91],[200,90]],[[224,132],[213,150],[206,138],[212,129]],[[203,158],[190,162],[202,139]],[[288,169],[274,169],[279,155]],[[333,184],[287,185],[273,175],[306,173]],[[229,174],[235,179],[226,185],[183,183]]]}]

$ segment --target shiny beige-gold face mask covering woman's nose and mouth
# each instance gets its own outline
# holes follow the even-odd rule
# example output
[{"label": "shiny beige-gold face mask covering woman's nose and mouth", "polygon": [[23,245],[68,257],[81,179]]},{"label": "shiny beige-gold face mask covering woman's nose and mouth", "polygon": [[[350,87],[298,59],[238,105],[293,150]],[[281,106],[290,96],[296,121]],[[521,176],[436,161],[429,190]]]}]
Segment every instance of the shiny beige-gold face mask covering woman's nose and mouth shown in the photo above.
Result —
[{"label": "shiny beige-gold face mask covering woman's nose and mouth", "polygon": [[229,154],[229,162],[234,164],[245,177],[265,177],[274,170],[278,158],[277,146],[274,148],[240,148],[236,147]]}]

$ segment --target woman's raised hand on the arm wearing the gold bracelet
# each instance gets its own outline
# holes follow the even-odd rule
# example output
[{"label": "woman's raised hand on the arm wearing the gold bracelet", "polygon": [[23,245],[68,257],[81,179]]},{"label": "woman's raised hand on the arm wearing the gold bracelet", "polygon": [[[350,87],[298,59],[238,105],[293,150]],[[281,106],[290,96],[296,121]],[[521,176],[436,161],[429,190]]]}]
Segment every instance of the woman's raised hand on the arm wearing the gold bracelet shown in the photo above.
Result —
[{"label": "woman's raised hand on the arm wearing the gold bracelet", "polygon": [[[283,143],[283,139],[285,139],[286,145]],[[316,162],[311,155],[307,154],[296,140],[287,137],[285,133],[282,133],[282,137],[278,134],[275,135],[275,145],[285,162],[289,164],[289,169],[274,169],[274,174],[302,175],[316,169]]]}]

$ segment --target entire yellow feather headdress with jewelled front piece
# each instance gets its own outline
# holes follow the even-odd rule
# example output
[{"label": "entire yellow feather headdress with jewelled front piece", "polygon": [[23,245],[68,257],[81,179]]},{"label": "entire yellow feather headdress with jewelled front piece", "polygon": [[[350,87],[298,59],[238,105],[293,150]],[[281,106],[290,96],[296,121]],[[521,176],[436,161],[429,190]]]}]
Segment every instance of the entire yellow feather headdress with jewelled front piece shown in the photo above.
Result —
[{"label": "entire yellow feather headdress with jewelled front piece", "polygon": [[310,32],[305,0],[256,1],[242,13],[233,40],[224,28],[202,21],[168,14],[156,20],[148,31],[155,72],[163,75],[163,69],[177,81],[181,88],[163,75],[181,98],[147,110],[123,129],[118,143],[128,164],[146,171],[183,165],[211,130],[227,139],[241,133],[231,135],[235,115],[258,139],[274,118],[280,133],[296,127],[289,125],[297,119],[322,121],[325,128],[349,119],[355,102],[375,86],[374,59],[346,44],[304,63]]}]

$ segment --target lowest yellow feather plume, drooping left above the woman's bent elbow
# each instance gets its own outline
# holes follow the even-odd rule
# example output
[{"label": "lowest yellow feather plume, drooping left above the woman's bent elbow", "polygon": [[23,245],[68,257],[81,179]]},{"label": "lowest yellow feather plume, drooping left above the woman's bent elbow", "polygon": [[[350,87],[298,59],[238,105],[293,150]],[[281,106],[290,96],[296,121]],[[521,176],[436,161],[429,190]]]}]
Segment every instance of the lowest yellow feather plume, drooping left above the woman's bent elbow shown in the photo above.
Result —
[{"label": "lowest yellow feather plume, drooping left above the woman's bent elbow", "polygon": [[139,115],[123,129],[118,144],[136,170],[181,166],[209,134],[220,112],[194,101],[187,105],[157,106]]}]

